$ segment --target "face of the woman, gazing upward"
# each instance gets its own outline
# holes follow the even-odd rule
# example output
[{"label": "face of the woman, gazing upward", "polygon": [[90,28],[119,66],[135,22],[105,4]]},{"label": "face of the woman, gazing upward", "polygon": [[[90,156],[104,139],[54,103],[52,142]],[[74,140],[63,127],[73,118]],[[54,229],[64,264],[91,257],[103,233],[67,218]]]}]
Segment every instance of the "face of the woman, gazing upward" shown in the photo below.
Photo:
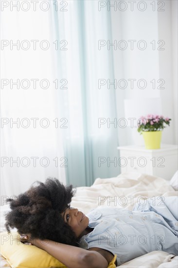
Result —
[{"label": "face of the woman, gazing upward", "polygon": [[77,209],[70,208],[62,212],[61,215],[64,221],[71,226],[71,229],[77,237],[81,237],[85,234],[85,229],[89,225],[89,218],[84,213]]}]

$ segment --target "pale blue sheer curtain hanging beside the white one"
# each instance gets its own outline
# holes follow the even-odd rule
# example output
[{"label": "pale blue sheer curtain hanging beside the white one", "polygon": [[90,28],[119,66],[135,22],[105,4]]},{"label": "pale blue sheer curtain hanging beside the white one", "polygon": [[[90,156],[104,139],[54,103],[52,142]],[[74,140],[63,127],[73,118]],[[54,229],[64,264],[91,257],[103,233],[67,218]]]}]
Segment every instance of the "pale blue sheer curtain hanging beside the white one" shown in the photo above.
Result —
[{"label": "pale blue sheer curtain hanging beside the white one", "polygon": [[[59,92],[60,114],[69,122],[62,129],[67,182],[89,186],[119,173],[110,162],[118,155],[117,128],[109,124],[117,117],[115,91],[98,87],[99,79],[114,80],[112,50],[98,47],[111,39],[110,12],[99,12],[97,1],[69,1],[68,11],[53,9],[52,18],[53,39],[67,41],[66,50],[56,51],[58,80],[68,82]],[[99,127],[100,118],[106,123]]]}]

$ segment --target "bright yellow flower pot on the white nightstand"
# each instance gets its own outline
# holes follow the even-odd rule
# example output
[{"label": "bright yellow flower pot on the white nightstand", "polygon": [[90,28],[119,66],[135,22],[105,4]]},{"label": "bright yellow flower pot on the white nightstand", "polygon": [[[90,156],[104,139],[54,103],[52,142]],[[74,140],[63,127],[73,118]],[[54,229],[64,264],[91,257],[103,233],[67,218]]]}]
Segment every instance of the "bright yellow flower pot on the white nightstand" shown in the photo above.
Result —
[{"label": "bright yellow flower pot on the white nightstand", "polygon": [[160,149],[162,131],[143,131],[146,149]]}]

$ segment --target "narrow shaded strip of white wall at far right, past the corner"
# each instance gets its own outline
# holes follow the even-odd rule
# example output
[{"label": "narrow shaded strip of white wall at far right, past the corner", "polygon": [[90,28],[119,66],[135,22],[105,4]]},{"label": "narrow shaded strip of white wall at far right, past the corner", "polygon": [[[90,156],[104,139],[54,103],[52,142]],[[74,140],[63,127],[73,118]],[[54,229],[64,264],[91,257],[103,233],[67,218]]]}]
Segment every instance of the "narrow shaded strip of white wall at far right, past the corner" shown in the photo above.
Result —
[{"label": "narrow shaded strip of white wall at far right, past the corner", "polygon": [[[171,127],[165,128],[163,131],[162,141],[164,143],[177,143],[178,139],[178,116],[176,113],[178,106],[178,98],[176,97],[176,62],[177,62],[177,46],[176,39],[178,32],[176,31],[177,1],[165,1],[165,12],[158,13],[158,29],[159,39],[165,41],[165,50],[159,51],[159,68],[160,77],[166,81],[165,90],[160,91],[162,101],[162,114],[169,115],[172,118]],[[175,10],[174,10],[175,9]]]}]

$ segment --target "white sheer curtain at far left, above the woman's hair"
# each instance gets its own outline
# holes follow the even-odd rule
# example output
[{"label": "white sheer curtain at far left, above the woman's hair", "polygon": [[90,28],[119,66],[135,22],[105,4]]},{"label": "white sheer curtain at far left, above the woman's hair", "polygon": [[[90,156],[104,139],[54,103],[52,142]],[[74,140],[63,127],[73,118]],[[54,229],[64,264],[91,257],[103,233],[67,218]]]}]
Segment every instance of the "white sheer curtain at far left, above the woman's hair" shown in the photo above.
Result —
[{"label": "white sheer curtain at far left, above the woman's hair", "polygon": [[[13,11],[10,11],[10,8],[4,9],[1,12],[1,25],[2,40],[8,40],[9,43],[12,40],[14,44],[19,40],[21,46],[23,40],[30,43],[28,50],[21,49],[20,45],[19,50],[17,46],[13,46],[12,50],[10,45],[3,50],[1,47],[1,82],[2,79],[9,82],[7,86],[1,86],[3,202],[3,196],[26,191],[36,180],[44,181],[48,176],[52,176],[66,183],[66,177],[63,167],[65,158],[62,158],[65,157],[62,136],[60,128],[56,128],[55,119],[58,118],[60,123],[57,90],[53,83],[56,77],[53,73],[50,11],[42,12],[37,9],[34,12],[32,8],[27,12],[21,9],[17,11],[15,8]],[[31,40],[38,40],[36,50]],[[42,40],[50,43],[48,50],[40,48]],[[23,45],[25,48],[27,42]],[[46,43],[43,45],[45,47]],[[19,88],[13,84],[17,83],[18,79]],[[21,83],[23,79],[26,80]],[[36,86],[34,79],[38,79]],[[40,85],[43,79],[46,81]]]}]

